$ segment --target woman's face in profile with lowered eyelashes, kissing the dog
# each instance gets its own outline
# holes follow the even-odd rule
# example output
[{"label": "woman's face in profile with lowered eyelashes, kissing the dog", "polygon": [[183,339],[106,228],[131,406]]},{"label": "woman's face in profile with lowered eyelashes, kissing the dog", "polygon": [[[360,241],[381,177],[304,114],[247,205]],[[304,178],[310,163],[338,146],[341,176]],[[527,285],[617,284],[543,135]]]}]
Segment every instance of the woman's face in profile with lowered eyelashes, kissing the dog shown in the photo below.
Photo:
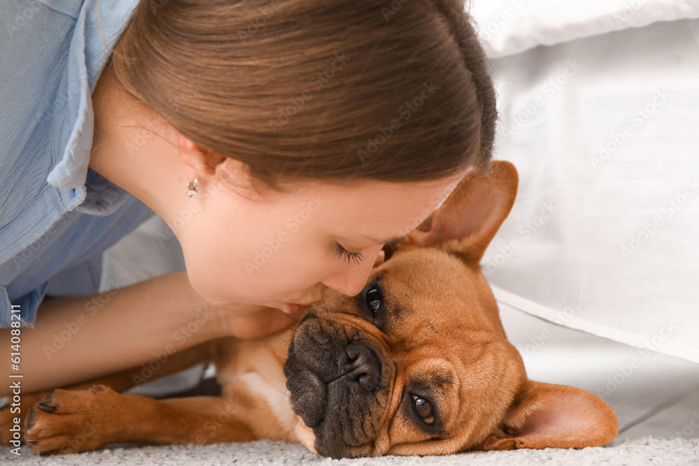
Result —
[{"label": "woman's face in profile with lowered eyelashes, kissing the dog", "polygon": [[253,200],[212,182],[177,229],[189,280],[215,305],[289,311],[319,300],[324,286],[354,296],[384,243],[417,227],[460,179],[298,182]]}]

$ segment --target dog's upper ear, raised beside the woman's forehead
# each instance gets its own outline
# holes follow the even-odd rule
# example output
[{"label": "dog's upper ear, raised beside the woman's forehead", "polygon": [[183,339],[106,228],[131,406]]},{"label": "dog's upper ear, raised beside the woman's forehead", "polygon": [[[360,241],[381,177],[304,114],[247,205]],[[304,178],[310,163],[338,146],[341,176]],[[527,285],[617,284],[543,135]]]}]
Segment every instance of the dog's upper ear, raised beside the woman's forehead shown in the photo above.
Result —
[{"label": "dog's upper ear, raised beside the woman's forehead", "polygon": [[442,247],[479,263],[510,214],[518,182],[517,169],[507,161],[491,162],[488,175],[472,169],[444,203],[403,238],[403,243]]}]

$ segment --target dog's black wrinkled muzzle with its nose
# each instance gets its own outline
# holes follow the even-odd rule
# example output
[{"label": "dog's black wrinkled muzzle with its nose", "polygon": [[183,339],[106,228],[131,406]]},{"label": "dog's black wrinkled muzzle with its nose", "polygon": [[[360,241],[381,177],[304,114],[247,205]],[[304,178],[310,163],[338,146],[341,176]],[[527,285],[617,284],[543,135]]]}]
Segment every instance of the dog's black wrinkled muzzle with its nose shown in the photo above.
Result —
[{"label": "dog's black wrinkled muzzle with its nose", "polygon": [[[329,321],[306,321],[289,346],[284,375],[291,406],[303,420],[301,441],[331,458],[373,456],[387,400],[380,356]],[[388,377],[390,378],[390,377]],[[302,431],[303,432],[303,431]]]}]

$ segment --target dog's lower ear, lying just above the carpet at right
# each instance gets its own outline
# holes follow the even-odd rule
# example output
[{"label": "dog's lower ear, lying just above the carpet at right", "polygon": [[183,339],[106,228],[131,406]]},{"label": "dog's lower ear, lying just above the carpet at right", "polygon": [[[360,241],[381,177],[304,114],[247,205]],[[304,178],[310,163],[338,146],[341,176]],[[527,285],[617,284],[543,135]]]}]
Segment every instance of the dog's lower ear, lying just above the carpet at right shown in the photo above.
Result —
[{"label": "dog's lower ear, lying just above the carpet at right", "polygon": [[618,429],[612,408],[595,395],[528,380],[481,449],[602,446],[617,436]]}]

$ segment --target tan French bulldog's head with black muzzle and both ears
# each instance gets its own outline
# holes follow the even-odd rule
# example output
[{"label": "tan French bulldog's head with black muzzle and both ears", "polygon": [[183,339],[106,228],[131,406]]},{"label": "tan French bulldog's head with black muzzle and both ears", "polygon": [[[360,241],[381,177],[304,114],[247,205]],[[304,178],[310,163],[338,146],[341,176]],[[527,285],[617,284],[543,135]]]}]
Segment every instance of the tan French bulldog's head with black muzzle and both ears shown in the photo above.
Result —
[{"label": "tan French bulldog's head with black muzzle and both ears", "polygon": [[473,170],[374,268],[329,290],[284,365],[296,434],[324,456],[597,446],[617,434],[599,398],[526,378],[480,259],[510,213],[517,170]]}]

